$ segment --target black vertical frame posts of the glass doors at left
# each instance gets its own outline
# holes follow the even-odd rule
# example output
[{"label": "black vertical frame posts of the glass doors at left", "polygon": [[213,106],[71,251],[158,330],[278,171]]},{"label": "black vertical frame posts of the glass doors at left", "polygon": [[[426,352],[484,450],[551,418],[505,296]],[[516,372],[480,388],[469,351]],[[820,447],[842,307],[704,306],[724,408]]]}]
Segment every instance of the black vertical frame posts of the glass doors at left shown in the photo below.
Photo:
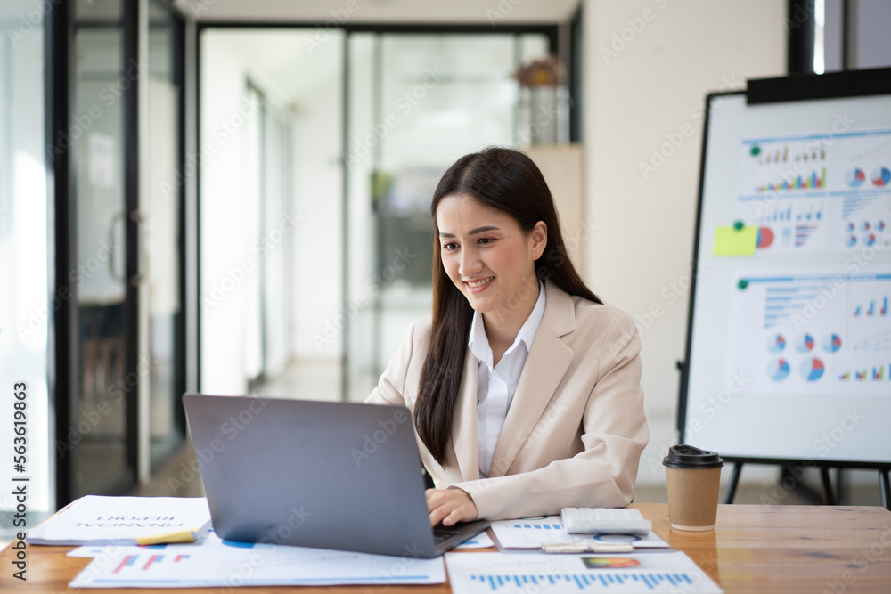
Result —
[{"label": "black vertical frame posts of the glass doors at left", "polygon": [[[78,443],[69,443],[69,427],[76,426],[78,419],[72,418],[72,412],[75,411],[73,403],[78,398],[80,385],[80,368],[81,356],[78,337],[78,298],[77,287],[71,282],[70,271],[76,270],[77,262],[77,240],[78,240],[78,204],[77,191],[75,187],[74,171],[72,167],[73,151],[65,151],[61,155],[53,154],[53,147],[57,140],[68,134],[73,124],[73,97],[75,90],[75,14],[76,0],[62,0],[58,4],[53,4],[51,10],[47,14],[48,19],[47,30],[49,35],[45,36],[45,85],[46,85],[46,147],[47,147],[47,193],[50,203],[50,210],[53,217],[50,219],[53,226],[51,236],[51,245],[49,253],[52,255],[49,262],[49,270],[53,287],[52,294],[58,295],[59,305],[53,314],[53,325],[49,335],[49,364],[48,364],[48,388],[50,394],[50,418],[51,435],[53,435],[53,443],[51,446],[51,474],[54,476],[54,495],[55,508],[61,508],[74,499],[74,468],[73,456],[70,455],[71,450],[78,447]],[[180,31],[176,39],[176,73],[180,77],[182,94],[179,102],[180,118],[179,118],[179,138],[178,150],[179,157],[177,164],[180,172],[183,171],[184,164],[184,148],[186,146],[185,139],[185,122],[187,117],[185,114],[186,106],[189,104],[187,95],[189,93],[188,86],[184,77],[186,69],[185,62],[185,30],[187,22],[181,12],[166,2],[158,2],[163,8],[167,9],[174,17],[180,21]],[[147,46],[145,36],[148,31],[148,0],[140,0],[139,2],[130,2],[129,0],[121,0],[123,10],[122,14],[122,44],[123,44],[123,62],[121,64],[122,71],[127,71],[132,64],[142,64],[148,59],[145,55],[145,47]],[[143,256],[143,230],[140,214],[140,168],[142,167],[141,159],[147,156],[140,151],[141,144],[141,110],[145,110],[146,106],[141,100],[143,93],[143,81],[141,77],[130,77],[129,85],[126,89],[122,89],[122,100],[124,106],[123,120],[123,188],[124,188],[124,242],[125,242],[125,300],[124,300],[124,335],[125,335],[125,355],[123,378],[135,378],[137,389],[131,389],[126,392],[124,406],[126,407],[125,416],[125,468],[116,476],[110,479],[106,484],[102,485],[102,494],[122,494],[129,492],[140,477],[143,480],[151,474],[151,456],[148,452],[142,452],[144,445],[141,442],[141,435],[149,427],[149,419],[143,419],[143,427],[140,423],[140,393],[145,393],[143,398],[147,397],[147,391],[143,385],[147,385],[148,377],[141,377],[147,373],[140,370],[140,359],[148,353],[141,353],[140,346],[148,344],[141,340],[140,337],[140,306],[139,293],[140,274],[143,264],[141,258]],[[143,133],[144,135],[144,133]],[[186,267],[187,250],[184,248],[186,244],[186,231],[188,229],[188,221],[185,218],[186,207],[184,196],[186,195],[186,185],[181,184],[177,199],[179,204],[177,212],[179,213],[179,225],[177,229],[179,243],[179,266],[180,266],[180,286],[179,295],[181,303],[180,320],[176,324],[176,346],[175,353],[178,361],[175,370],[175,394],[180,398],[184,392],[187,378],[188,368],[186,362],[190,360],[187,354],[186,329],[188,327],[188,319],[191,309],[187,307],[188,301],[186,295],[188,287],[186,279],[188,270]],[[144,365],[143,365],[144,367]],[[184,440],[185,423],[184,414],[181,405],[175,409],[176,431]],[[144,415],[143,415],[144,416]],[[181,441],[183,441],[181,440]],[[159,461],[159,460],[158,460]]]}]

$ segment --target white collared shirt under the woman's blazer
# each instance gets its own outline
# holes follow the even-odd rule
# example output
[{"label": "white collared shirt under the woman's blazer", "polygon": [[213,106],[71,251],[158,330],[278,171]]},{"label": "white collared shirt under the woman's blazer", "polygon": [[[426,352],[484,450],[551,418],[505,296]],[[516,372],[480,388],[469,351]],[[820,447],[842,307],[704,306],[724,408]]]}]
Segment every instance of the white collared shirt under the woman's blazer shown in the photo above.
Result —
[{"label": "white collared shirt under the woman's blazer", "polygon": [[477,357],[477,435],[479,442],[479,476],[487,477],[492,469],[492,454],[495,443],[511,408],[513,395],[517,391],[519,376],[532,348],[535,332],[544,317],[544,284],[538,282],[538,300],[532,313],[519,329],[517,338],[502,355],[501,360],[493,368],[492,347],[486,337],[486,326],[482,314],[473,313],[470,325],[468,346]]}]

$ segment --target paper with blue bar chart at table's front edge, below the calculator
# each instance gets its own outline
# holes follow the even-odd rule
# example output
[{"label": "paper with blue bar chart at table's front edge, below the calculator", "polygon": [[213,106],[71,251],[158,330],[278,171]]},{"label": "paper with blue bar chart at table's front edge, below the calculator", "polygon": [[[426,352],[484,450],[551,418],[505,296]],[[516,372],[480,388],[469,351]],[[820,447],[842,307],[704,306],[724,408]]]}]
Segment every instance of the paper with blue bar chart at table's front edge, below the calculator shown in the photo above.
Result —
[{"label": "paper with blue bar chart at table's front edge, below the calculator", "polygon": [[680,552],[633,556],[446,555],[454,591],[483,592],[721,592]]}]

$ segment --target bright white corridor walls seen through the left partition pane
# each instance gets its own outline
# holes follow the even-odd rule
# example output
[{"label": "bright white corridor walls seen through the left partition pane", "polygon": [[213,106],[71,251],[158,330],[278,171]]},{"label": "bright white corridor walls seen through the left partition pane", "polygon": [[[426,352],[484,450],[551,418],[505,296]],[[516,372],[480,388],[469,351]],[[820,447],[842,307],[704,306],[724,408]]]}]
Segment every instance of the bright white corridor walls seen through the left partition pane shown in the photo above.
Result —
[{"label": "bright white corridor walls seen through the left partition pane", "polygon": [[[340,338],[318,346],[325,321],[340,313],[342,34],[313,29],[217,29],[200,38],[201,389],[244,394],[258,370],[258,274],[273,249],[290,249],[292,355],[339,361]],[[287,164],[293,195],[274,228],[284,240],[257,249],[251,164],[258,111],[246,80],[290,114]],[[267,214],[267,218],[269,214]],[[286,220],[287,219],[287,220]],[[267,233],[269,237],[272,236]],[[278,236],[276,236],[278,237]],[[264,239],[264,238],[259,238]]]}]

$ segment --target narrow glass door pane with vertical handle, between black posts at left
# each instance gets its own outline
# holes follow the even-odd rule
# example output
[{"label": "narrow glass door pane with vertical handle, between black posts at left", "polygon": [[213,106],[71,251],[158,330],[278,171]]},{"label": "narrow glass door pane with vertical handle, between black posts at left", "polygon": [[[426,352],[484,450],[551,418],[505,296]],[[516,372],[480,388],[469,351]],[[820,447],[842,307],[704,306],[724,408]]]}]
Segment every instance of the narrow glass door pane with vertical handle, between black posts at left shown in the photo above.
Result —
[{"label": "narrow glass door pane with vertical handle, between black posts at left", "polygon": [[[122,0],[74,4],[69,159],[76,218],[70,281],[76,295],[67,435],[68,497],[121,492],[135,482],[135,209],[128,201],[127,106],[142,70],[125,58]],[[65,144],[60,143],[64,148]],[[130,200],[128,200],[130,198]],[[64,501],[60,501],[64,503]]]}]

